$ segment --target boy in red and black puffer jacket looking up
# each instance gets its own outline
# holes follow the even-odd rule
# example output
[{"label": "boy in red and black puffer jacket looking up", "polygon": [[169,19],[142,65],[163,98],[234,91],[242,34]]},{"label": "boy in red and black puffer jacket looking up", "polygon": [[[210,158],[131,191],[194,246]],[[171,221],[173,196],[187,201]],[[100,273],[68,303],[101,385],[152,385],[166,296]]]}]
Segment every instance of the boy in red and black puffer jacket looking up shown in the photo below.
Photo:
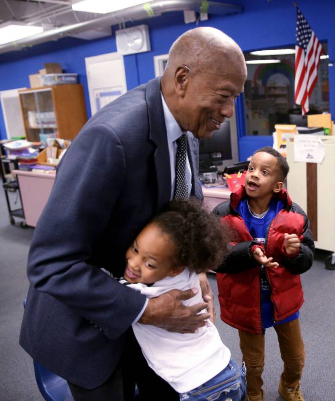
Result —
[{"label": "boy in red and black puffer jacket looking up", "polygon": [[274,149],[257,150],[245,185],[215,208],[236,231],[236,242],[217,270],[221,318],[239,330],[247,367],[247,400],[263,401],[265,329],[277,332],[284,370],[278,392],[304,401],[300,379],[304,345],[299,326],[300,274],[313,262],[314,241],[303,210],[283,189],[289,167]]}]

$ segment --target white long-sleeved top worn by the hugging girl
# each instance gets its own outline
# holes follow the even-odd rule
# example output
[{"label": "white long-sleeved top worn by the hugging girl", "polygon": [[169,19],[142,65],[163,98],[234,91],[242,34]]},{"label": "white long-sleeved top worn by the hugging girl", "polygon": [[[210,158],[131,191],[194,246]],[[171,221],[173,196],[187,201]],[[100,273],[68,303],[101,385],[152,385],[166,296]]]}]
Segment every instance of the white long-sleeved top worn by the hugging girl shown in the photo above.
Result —
[{"label": "white long-sleeved top worn by the hugging girl", "polygon": [[[204,302],[199,277],[188,269],[178,276],[157,281],[151,287],[141,283],[128,286],[148,298],[173,289],[183,291],[196,287],[198,294],[182,301],[183,304],[190,306]],[[216,376],[230,361],[230,350],[223,344],[218,330],[210,321],[193,334],[171,333],[138,322],[132,327],[148,365],[180,393],[190,391]]]}]

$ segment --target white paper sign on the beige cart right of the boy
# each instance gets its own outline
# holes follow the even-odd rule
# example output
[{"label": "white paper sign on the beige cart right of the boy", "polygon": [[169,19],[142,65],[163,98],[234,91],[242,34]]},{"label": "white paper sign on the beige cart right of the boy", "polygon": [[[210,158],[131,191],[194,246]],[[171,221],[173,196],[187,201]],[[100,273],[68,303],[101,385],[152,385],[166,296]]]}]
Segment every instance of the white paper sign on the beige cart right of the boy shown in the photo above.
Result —
[{"label": "white paper sign on the beige cart right of the boy", "polygon": [[297,135],[294,137],[294,161],[322,163],[324,145],[317,135]]}]

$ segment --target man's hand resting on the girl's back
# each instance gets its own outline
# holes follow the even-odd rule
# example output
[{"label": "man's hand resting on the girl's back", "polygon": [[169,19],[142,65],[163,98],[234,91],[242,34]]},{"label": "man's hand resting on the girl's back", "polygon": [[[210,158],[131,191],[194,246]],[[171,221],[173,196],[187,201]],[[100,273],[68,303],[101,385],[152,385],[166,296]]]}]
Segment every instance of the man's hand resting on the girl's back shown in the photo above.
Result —
[{"label": "man's hand resting on the girl's back", "polygon": [[138,322],[176,333],[196,333],[211,317],[209,313],[200,313],[208,308],[208,303],[185,306],[182,300],[190,299],[197,293],[197,288],[186,291],[170,290],[159,297],[150,298]]}]

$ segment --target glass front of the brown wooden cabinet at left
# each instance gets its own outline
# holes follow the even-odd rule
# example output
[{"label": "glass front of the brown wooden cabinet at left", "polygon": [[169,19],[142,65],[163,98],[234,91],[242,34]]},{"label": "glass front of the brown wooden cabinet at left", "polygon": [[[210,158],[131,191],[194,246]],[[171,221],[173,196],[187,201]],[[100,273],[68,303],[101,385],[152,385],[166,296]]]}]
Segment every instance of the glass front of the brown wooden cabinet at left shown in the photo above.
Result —
[{"label": "glass front of the brown wooden cabinet at left", "polygon": [[28,141],[58,136],[51,88],[22,91],[20,100]]}]

